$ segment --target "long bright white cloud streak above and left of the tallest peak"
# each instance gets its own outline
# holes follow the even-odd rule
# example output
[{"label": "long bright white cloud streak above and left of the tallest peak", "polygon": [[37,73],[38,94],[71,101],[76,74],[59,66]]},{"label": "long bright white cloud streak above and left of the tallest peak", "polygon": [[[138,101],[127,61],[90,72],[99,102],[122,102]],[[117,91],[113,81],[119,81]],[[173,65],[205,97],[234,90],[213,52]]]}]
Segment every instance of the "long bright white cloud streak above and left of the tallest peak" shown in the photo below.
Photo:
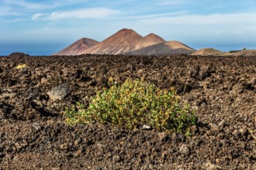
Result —
[{"label": "long bright white cloud streak above and left of the tallest peak", "polygon": [[52,12],[51,14],[37,13],[32,19],[58,20],[58,19],[101,19],[118,14],[119,11],[109,8],[86,8],[69,12]]}]

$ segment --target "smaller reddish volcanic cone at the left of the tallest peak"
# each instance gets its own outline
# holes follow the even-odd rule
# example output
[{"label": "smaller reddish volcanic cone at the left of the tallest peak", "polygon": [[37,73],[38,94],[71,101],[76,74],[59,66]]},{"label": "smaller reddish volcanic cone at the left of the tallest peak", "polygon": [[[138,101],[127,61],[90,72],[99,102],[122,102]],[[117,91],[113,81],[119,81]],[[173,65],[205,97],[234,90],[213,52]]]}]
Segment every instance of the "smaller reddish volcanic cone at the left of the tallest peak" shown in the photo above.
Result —
[{"label": "smaller reddish volcanic cone at the left of the tallest peak", "polygon": [[77,55],[85,51],[86,49],[95,46],[99,42],[94,39],[88,39],[88,38],[81,38],[78,41],[74,42],[70,46],[67,46],[66,48],[62,49],[61,51],[54,53],[54,56],[60,55],[60,56],[71,56],[71,55]]}]

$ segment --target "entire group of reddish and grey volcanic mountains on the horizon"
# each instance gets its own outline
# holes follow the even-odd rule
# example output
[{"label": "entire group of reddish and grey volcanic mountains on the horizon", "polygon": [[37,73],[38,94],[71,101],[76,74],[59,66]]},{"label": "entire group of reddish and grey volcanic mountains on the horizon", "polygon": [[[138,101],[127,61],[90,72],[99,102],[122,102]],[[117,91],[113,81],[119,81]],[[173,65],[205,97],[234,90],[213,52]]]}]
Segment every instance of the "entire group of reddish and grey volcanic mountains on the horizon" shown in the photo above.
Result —
[{"label": "entire group of reddish and grey volcanic mountains on the horizon", "polygon": [[[85,39],[88,40],[88,39]],[[93,39],[92,39],[93,40]],[[86,42],[86,41],[85,41]],[[147,36],[141,36],[133,29],[120,29],[102,42],[95,41],[93,44],[86,45],[83,39],[62,49],[57,55],[81,55],[91,54],[140,54],[140,55],[157,55],[157,54],[176,54],[176,53],[193,53],[195,49],[186,46],[178,41],[165,41],[161,36],[153,32]]]}]

